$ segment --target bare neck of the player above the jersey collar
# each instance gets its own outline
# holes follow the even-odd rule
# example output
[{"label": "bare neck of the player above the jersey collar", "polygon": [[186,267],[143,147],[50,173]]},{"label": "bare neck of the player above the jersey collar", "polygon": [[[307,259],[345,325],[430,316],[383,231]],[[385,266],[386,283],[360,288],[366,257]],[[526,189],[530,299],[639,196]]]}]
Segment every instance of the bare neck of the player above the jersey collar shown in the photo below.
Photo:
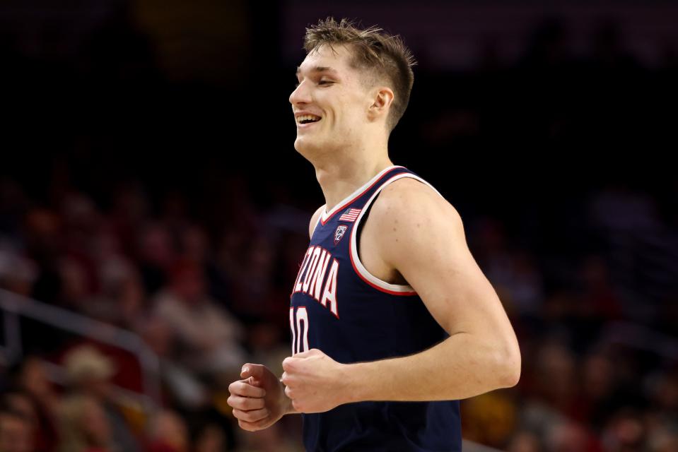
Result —
[{"label": "bare neck of the player above the jersey collar", "polygon": [[336,157],[328,156],[322,162],[314,162],[315,177],[325,195],[325,210],[332,210],[342,199],[392,165],[386,147],[380,153],[364,150],[353,155],[337,153]]}]

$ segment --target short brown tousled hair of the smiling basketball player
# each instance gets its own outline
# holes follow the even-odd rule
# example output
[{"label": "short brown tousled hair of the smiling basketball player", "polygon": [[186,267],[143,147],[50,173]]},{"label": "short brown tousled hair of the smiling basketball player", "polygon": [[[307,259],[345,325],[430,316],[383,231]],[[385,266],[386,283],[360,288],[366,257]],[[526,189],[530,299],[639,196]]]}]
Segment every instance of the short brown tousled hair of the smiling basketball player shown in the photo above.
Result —
[{"label": "short brown tousled hair of the smiling basketball player", "polygon": [[332,44],[350,45],[353,49],[351,66],[373,71],[379,80],[392,85],[394,99],[387,118],[389,132],[392,131],[407,108],[414,83],[412,66],[416,61],[402,39],[398,35],[388,35],[376,26],[361,30],[351,20],[341,19],[337,22],[328,17],[306,28],[306,53],[316,51],[322,44],[328,44],[329,47]]}]

